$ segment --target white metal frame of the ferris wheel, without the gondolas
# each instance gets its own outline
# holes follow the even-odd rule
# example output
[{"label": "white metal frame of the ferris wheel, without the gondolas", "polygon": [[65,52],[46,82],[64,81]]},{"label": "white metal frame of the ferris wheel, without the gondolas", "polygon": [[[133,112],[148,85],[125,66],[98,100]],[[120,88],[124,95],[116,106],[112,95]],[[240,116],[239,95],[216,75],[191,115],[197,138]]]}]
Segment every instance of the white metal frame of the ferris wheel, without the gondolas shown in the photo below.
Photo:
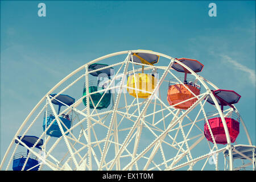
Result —
[{"label": "white metal frame of the ferris wheel, without the gondolas", "polygon": [[[132,59],[132,53],[152,53],[155,55],[159,55],[160,57],[164,57],[170,62],[166,67],[157,67],[155,65],[147,65],[147,64],[140,64],[140,63],[134,63]],[[88,71],[88,66],[93,63],[97,63],[98,61],[102,61],[104,59],[108,59],[109,57],[113,56],[118,56],[118,55],[126,55],[126,59],[124,61],[121,61],[119,63],[115,63],[112,65],[109,65],[108,67],[119,67],[117,74],[113,77],[113,80],[110,81],[110,84],[108,88],[98,91],[98,92],[107,92],[110,89],[120,89],[122,90],[127,89],[128,87],[125,85],[125,76],[129,72],[138,72],[141,69],[134,69],[134,65],[142,65],[144,66],[144,70],[146,69],[151,69],[151,68],[156,68],[161,70],[162,76],[160,76],[158,84],[155,86],[154,91],[151,93],[151,96],[147,98],[146,100],[140,102],[138,99],[138,91],[141,91],[138,88],[129,88],[129,89],[134,89],[137,92],[137,98],[134,98],[133,101],[129,102],[127,100],[126,94],[122,92],[117,93],[117,97],[115,97],[115,94],[113,98],[115,97],[115,100],[113,100],[113,108],[108,111],[97,111],[95,109],[97,107],[94,106],[93,110],[90,110],[89,108],[89,101],[92,100],[92,97],[90,97],[94,93],[88,93],[86,96],[83,96],[79,98],[75,102],[75,104],[71,106],[67,106],[65,110],[63,110],[59,115],[56,113],[51,100],[55,99],[59,94],[65,93],[65,91],[71,86],[73,86],[77,81],[81,80],[82,78],[85,79],[85,86],[86,90],[89,90],[89,73],[93,71]],[[132,61],[130,61],[130,58]],[[183,84],[183,81],[179,80],[175,76],[175,71],[173,71],[172,64],[174,63],[179,63],[182,65],[184,68],[188,69],[189,72],[191,72],[191,75],[195,77],[201,85],[204,87],[205,92],[200,93],[199,96],[196,96],[193,92],[190,92],[193,94],[193,98],[197,98],[197,101],[189,107],[188,110],[179,110],[179,109],[174,109],[174,106],[167,106],[160,94],[159,96],[155,94],[158,92],[158,89],[160,86],[163,84],[164,81],[166,81],[166,78],[168,76],[176,78],[180,84]],[[129,64],[133,67],[132,70],[129,71]],[[105,69],[105,68],[101,68]],[[101,70],[98,69],[97,71]],[[113,86],[112,83],[115,79],[120,76],[118,75],[119,72],[123,69],[122,76],[121,76],[121,85],[119,86]],[[80,71],[84,70],[85,72],[82,73],[76,80],[71,82],[68,86],[66,86],[63,90],[61,90],[59,93],[56,94],[55,97],[49,97],[49,94],[53,93],[59,86],[61,86],[65,81],[67,81],[69,78],[72,78],[72,76],[76,75],[76,73],[79,73]],[[136,84],[135,84],[136,85]],[[183,84],[184,85],[184,84]],[[15,140],[18,140],[21,144],[23,144],[30,152],[28,154],[27,159],[29,158],[30,154],[34,154],[42,163],[40,163],[40,168],[42,169],[44,165],[49,167],[50,169],[53,170],[155,170],[155,169],[164,169],[164,170],[174,170],[174,169],[182,169],[183,167],[188,166],[188,170],[192,170],[193,166],[205,159],[205,162],[201,169],[203,170],[205,166],[207,165],[207,162],[209,158],[214,154],[216,154],[216,164],[215,164],[215,169],[218,170],[218,154],[224,150],[228,150],[229,154],[232,154],[232,144],[230,142],[230,137],[228,133],[228,127],[226,126],[226,123],[223,122],[225,121],[224,119],[224,114],[222,114],[221,108],[218,105],[218,102],[216,98],[213,96],[212,92],[209,89],[209,86],[212,86],[214,89],[218,89],[217,86],[212,84],[210,81],[207,79],[203,78],[202,76],[197,75],[195,72],[193,72],[189,67],[181,63],[180,61],[174,59],[171,56],[164,55],[159,52],[153,52],[153,51],[144,51],[144,50],[133,50],[133,51],[121,51],[121,52],[116,52],[112,53],[106,56],[102,56],[98,59],[95,59],[93,61],[90,61],[89,63],[86,63],[82,65],[80,68],[76,69],[72,73],[70,73],[68,76],[63,78],[58,84],[56,84],[49,92],[38,102],[38,104],[34,107],[34,109],[31,110],[31,112],[28,114],[27,118],[24,120],[22,125],[20,126],[19,130],[16,132],[14,135],[13,140],[10,143],[10,146],[7,148],[5,155],[3,156],[2,162],[0,169],[9,169],[11,166],[11,162],[13,160],[14,154],[17,151],[18,144],[14,146]],[[202,89],[201,89],[202,90]],[[104,93],[104,94],[105,94]],[[199,145],[200,142],[205,141],[205,137],[203,132],[200,134],[197,134],[193,137],[189,137],[190,134],[193,134],[193,131],[196,130],[201,130],[199,126],[197,126],[197,123],[202,122],[205,120],[207,122],[207,125],[209,127],[207,115],[205,114],[206,111],[204,109],[206,100],[205,98],[211,97],[212,100],[214,101],[215,107],[218,111],[218,114],[221,117],[224,130],[226,133],[226,140],[228,144],[226,144],[226,147],[223,148],[218,148],[212,131],[210,130],[210,134],[212,135],[213,138],[213,147],[209,146],[209,150],[213,151],[213,153],[205,153],[204,155],[200,156],[193,156],[192,154],[192,149],[195,148],[196,146]],[[82,103],[82,99],[86,98],[86,107],[82,110],[77,109],[77,106],[79,106]],[[155,98],[155,100],[152,100],[152,98]],[[193,98],[189,99],[192,100]],[[102,99],[102,98],[101,98]],[[124,107],[119,107],[119,102],[122,100],[125,102]],[[188,101],[188,100],[187,100]],[[46,102],[46,104],[44,104]],[[185,102],[185,101],[184,101]],[[129,104],[128,104],[129,103]],[[180,102],[181,103],[181,102]],[[179,103],[179,104],[180,104]],[[148,114],[147,109],[149,106],[153,105],[154,109]],[[177,104],[176,104],[177,105]],[[39,108],[39,106],[42,106],[42,109],[39,111],[39,113],[36,115],[34,119],[31,118],[32,114],[35,113],[35,111]],[[161,109],[156,110],[156,106],[160,106]],[[52,111],[53,114],[55,115],[56,121],[60,127],[61,134],[63,134],[60,138],[55,138],[55,142],[51,145],[47,145],[49,140],[51,140],[51,137],[46,135],[47,130],[49,127],[52,125],[52,123],[55,121],[53,120],[51,125],[46,127],[46,130],[40,135],[38,142],[40,139],[44,138],[44,145],[42,147],[42,150],[44,151],[44,158],[38,154],[38,152],[35,151],[35,146],[38,142],[35,143],[35,145],[31,148],[27,147],[26,144],[24,144],[21,140],[19,140],[17,137],[18,135],[21,135],[22,137],[28,133],[32,125],[35,125],[36,122],[38,121],[39,116],[43,113],[43,111],[46,110],[47,112],[47,107],[49,107]],[[134,111],[130,111],[132,108],[137,107]],[[195,107],[200,107],[200,111],[196,114],[195,119],[191,119],[189,117],[189,113],[191,113]],[[236,107],[235,107],[236,108]],[[122,111],[122,109],[125,109],[125,111]],[[231,109],[230,109],[231,110]],[[168,111],[168,114],[164,115],[164,111]],[[63,113],[75,113],[75,120],[76,123],[73,123],[71,129],[68,129],[67,131],[64,132],[64,130],[61,127],[61,119],[59,119],[60,115]],[[199,115],[203,114],[203,118],[199,119]],[[156,114],[161,114],[162,118],[160,118],[158,121],[156,120]],[[110,121],[106,121],[105,118],[108,118],[110,115]],[[122,117],[122,119],[118,120],[117,117]],[[152,116],[152,122],[147,121],[148,117]],[[80,119],[80,117],[84,117]],[[172,118],[171,121],[169,120],[170,117]],[[97,119],[96,119],[97,118]],[[30,125],[27,127],[27,129],[21,133],[23,130],[24,126],[26,126],[28,121],[31,121]],[[184,123],[183,120],[187,119],[189,123]],[[123,125],[123,121],[127,120],[129,122],[132,122],[133,125],[130,127],[127,127],[125,129],[119,129],[121,125]],[[86,128],[84,128],[84,125],[82,123],[86,123]],[[106,125],[105,123],[108,123]],[[249,133],[247,132],[245,123],[241,119],[241,123],[243,125],[243,130],[245,130],[246,137],[248,140],[249,145],[252,145],[251,139],[249,137]],[[63,124],[63,123],[62,123]],[[163,124],[163,127],[159,127],[160,124]],[[95,131],[95,127],[101,126],[106,128],[108,131],[106,133],[105,138],[98,139],[97,134],[101,133],[101,131]],[[185,127],[190,126],[188,132],[186,133]],[[151,143],[148,144],[144,150],[138,152],[138,147],[139,147],[139,142],[141,141],[142,138],[142,131],[143,128],[147,129],[150,134],[154,135],[152,137]],[[210,127],[209,127],[210,128]],[[71,131],[75,129],[80,129],[79,135],[76,136],[75,134],[72,134]],[[120,134],[123,131],[129,131],[126,134],[125,139],[122,141],[119,139]],[[171,135],[171,132],[175,132],[175,135]],[[69,135],[65,135],[69,133]],[[177,136],[181,134],[183,140],[178,141]],[[85,139],[85,142],[82,140]],[[166,140],[172,140],[171,143],[168,143]],[[196,140],[195,140],[196,139]],[[61,141],[64,140],[65,145],[67,146],[67,153],[63,156],[61,160],[57,159],[56,156],[53,156],[51,153],[57,146],[57,144]],[[189,145],[189,143],[194,140],[192,144]],[[80,144],[80,148],[76,148],[76,144]],[[130,147],[130,145],[132,147]],[[114,150],[110,149],[112,146],[114,146]],[[170,148],[174,148],[177,152],[174,154],[171,158],[166,156],[166,147],[168,146]],[[13,149],[13,152],[11,150]],[[131,149],[132,148],[132,149]],[[85,154],[82,151],[85,151]],[[11,153],[10,153],[11,152]],[[114,153],[110,154],[110,153]],[[100,155],[100,156],[98,156]],[[162,158],[161,160],[163,161],[162,163],[157,163],[155,162],[154,158],[155,156],[159,156]],[[9,157],[9,162],[6,162],[7,157]],[[110,159],[111,158],[111,159]],[[126,159],[125,161],[129,160],[125,166],[123,166],[123,159]],[[141,160],[146,160],[144,162],[143,167],[139,167],[138,162]],[[181,160],[184,160],[184,162],[181,162]],[[122,160],[122,161],[121,161]],[[181,163],[180,163],[181,162]],[[7,164],[6,164],[7,163]],[[26,166],[27,160],[23,166]],[[71,164],[75,164],[75,166],[71,166]],[[3,166],[6,165],[5,168]],[[233,156],[229,155],[229,169],[233,170]]]}]

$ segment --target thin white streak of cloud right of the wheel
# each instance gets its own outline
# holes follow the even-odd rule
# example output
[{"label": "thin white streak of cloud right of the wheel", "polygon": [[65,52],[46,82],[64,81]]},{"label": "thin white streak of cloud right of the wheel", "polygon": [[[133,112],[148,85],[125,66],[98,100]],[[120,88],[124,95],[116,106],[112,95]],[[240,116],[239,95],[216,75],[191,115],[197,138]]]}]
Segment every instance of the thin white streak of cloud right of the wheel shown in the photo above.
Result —
[{"label": "thin white streak of cloud right of the wheel", "polygon": [[225,59],[225,61],[228,61],[231,63],[235,69],[239,69],[245,73],[247,73],[249,80],[251,83],[256,86],[256,75],[255,75],[255,70],[250,69],[246,67],[245,65],[242,65],[241,63],[238,63],[237,61],[233,60],[231,57],[227,55],[222,55],[222,58]]}]

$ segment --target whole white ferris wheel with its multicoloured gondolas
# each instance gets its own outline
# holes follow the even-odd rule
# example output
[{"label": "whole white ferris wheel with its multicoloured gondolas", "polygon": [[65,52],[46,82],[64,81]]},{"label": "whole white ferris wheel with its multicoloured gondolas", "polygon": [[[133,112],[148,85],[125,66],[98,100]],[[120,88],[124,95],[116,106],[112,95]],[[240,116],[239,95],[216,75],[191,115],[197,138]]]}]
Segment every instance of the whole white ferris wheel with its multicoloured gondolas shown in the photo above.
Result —
[{"label": "whole white ferris wheel with its multicoloured gondolas", "polygon": [[203,68],[141,49],[89,61],[36,104],[0,169],[255,170],[240,94]]}]

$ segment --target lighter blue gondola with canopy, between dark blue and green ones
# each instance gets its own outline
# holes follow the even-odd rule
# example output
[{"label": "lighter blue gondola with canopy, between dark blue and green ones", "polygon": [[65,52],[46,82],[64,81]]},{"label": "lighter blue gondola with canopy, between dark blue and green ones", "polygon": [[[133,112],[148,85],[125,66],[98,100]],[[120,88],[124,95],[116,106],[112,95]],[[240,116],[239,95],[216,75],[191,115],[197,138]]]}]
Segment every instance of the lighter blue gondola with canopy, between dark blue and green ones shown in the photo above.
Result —
[{"label": "lighter blue gondola with canopy, between dark blue and green ones", "polygon": [[[56,94],[50,94],[51,97],[55,97]],[[60,113],[60,107],[61,106],[71,106],[72,104],[75,103],[75,98],[72,98],[68,95],[64,95],[64,94],[60,94],[59,96],[56,97],[56,99],[52,100],[52,104],[55,105],[59,105],[59,109],[58,109],[58,115]],[[59,117],[61,119],[61,121],[64,123],[64,125],[67,127],[67,129],[71,128],[71,122],[72,122],[72,118],[69,118],[68,115],[62,115]],[[48,127],[51,122],[55,119],[55,116],[53,115],[53,113],[49,112],[46,115],[44,115],[44,121],[43,121],[43,130],[46,130],[46,127]],[[47,126],[46,126],[47,125]],[[63,131],[67,131],[66,127],[64,127],[64,125],[61,123],[61,127],[63,128]],[[59,125],[55,119],[55,121],[53,121],[52,125],[49,127],[49,129],[46,132],[47,135],[51,136],[51,137],[61,137],[61,130],[59,128]],[[66,135],[68,135],[69,133],[67,133]]]}]

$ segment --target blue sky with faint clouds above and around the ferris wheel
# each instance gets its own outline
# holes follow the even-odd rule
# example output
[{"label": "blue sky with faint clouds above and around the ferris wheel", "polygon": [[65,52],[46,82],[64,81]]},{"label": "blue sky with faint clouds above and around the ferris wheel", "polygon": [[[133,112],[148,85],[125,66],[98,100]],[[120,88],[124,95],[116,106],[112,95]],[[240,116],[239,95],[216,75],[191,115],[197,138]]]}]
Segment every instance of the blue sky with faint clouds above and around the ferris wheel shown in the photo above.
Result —
[{"label": "blue sky with faint clouds above and around the ferris wheel", "polygon": [[1,158],[57,82],[129,49],[201,61],[200,75],[241,94],[236,107],[255,144],[255,1],[1,1]]}]

